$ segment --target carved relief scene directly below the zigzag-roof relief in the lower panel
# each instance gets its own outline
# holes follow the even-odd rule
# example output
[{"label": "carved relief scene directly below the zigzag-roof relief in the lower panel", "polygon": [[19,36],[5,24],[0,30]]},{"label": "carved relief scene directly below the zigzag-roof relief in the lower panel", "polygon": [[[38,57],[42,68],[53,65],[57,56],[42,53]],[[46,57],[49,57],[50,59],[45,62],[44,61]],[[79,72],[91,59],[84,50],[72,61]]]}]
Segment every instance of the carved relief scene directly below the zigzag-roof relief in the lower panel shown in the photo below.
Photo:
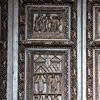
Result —
[{"label": "carved relief scene directly below the zigzag-roof relief in the lower panel", "polygon": [[59,75],[50,75],[45,81],[43,76],[40,75],[38,78],[38,92],[44,93],[45,88],[47,93],[61,93],[61,77]]}]

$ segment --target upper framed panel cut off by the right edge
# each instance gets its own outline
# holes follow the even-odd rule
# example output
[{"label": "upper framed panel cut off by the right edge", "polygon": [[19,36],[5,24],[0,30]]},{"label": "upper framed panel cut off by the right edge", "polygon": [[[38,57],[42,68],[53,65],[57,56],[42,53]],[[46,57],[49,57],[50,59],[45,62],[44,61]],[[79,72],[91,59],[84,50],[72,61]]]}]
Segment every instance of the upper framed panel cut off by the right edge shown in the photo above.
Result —
[{"label": "upper framed panel cut off by the right edge", "polygon": [[100,41],[100,6],[93,7],[93,39]]}]

